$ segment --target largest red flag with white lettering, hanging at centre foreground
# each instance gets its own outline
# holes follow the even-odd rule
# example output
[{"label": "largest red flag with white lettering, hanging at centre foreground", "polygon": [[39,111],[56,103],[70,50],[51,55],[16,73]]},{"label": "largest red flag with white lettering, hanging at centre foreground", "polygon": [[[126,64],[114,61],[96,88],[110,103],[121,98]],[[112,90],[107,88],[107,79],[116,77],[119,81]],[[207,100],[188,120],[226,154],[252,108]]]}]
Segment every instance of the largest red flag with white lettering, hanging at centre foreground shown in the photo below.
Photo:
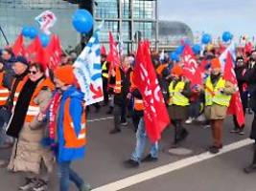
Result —
[{"label": "largest red flag with white lettering, hanging at centre foreground", "polygon": [[151,63],[149,42],[139,44],[134,68],[134,82],[144,100],[147,135],[151,142],[155,142],[161,138],[161,133],[170,123],[170,118]]}]

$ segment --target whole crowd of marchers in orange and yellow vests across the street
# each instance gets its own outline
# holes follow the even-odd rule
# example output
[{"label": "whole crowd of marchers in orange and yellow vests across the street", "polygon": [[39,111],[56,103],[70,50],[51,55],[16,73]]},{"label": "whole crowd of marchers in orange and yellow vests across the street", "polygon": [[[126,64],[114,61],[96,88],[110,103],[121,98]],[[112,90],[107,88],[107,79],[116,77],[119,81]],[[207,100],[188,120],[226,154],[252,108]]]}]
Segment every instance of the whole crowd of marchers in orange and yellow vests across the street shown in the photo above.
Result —
[{"label": "whole crowd of marchers in orange and yellow vests across the street", "polygon": [[[189,136],[184,123],[195,121],[211,127],[213,143],[208,148],[218,153],[222,144],[222,125],[236,85],[222,76],[220,53],[215,49],[198,54],[197,62],[205,64],[203,85],[192,87],[183,75],[183,62],[173,61],[168,54],[151,53],[159,85],[168,113],[174,126],[172,148],[178,148]],[[107,115],[113,115],[111,135],[122,132],[122,126],[132,120],[136,133],[136,146],[128,167],[138,167],[143,161],[158,159],[159,142],[151,142],[150,153],[143,157],[147,142],[143,96],[133,78],[135,55],[121,58],[120,67],[111,67],[107,55],[102,53],[102,76],[104,101],[96,103],[95,112],[109,107]],[[71,169],[71,163],[84,157],[86,145],[86,109],[83,93],[73,74],[72,64],[76,56],[63,54],[60,66],[46,75],[40,63],[30,63],[23,56],[15,56],[12,49],[1,51],[0,58],[0,148],[12,147],[10,159],[0,160],[12,172],[25,172],[26,182],[20,190],[43,191],[48,189],[53,166],[59,168],[59,190],[69,190],[73,181],[79,190],[87,191],[91,186]],[[244,115],[256,112],[256,51],[238,52],[235,74],[242,98]],[[72,108],[72,110],[70,109]],[[87,112],[88,111],[87,107]],[[230,133],[244,135],[244,127],[234,116],[234,128]],[[251,125],[250,138],[256,145],[256,116]],[[132,144],[131,144],[132,145]],[[252,163],[244,168],[246,173],[256,170],[256,146]]]}]

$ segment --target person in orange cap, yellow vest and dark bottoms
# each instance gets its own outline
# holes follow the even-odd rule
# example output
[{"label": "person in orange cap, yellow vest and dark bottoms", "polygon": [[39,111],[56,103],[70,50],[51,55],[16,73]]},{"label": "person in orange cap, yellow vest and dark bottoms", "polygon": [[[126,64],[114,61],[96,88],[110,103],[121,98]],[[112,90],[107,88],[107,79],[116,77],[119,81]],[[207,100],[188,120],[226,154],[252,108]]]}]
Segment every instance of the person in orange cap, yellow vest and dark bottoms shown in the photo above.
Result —
[{"label": "person in orange cap, yellow vest and dark bottoms", "polygon": [[172,69],[172,82],[169,86],[168,112],[175,126],[173,147],[177,147],[188,136],[188,131],[183,127],[182,121],[188,117],[191,90],[189,81],[186,81],[182,74],[182,68],[175,65]]}]

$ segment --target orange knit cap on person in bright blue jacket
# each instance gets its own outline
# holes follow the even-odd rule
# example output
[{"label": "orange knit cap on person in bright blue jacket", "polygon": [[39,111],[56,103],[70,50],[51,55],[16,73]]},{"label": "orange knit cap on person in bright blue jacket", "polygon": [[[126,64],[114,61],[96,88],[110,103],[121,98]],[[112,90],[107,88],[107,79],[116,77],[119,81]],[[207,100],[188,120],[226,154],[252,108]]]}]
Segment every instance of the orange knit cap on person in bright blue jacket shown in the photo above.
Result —
[{"label": "orange knit cap on person in bright blue jacket", "polygon": [[54,73],[55,76],[66,85],[72,85],[76,82],[71,65],[59,66]]}]

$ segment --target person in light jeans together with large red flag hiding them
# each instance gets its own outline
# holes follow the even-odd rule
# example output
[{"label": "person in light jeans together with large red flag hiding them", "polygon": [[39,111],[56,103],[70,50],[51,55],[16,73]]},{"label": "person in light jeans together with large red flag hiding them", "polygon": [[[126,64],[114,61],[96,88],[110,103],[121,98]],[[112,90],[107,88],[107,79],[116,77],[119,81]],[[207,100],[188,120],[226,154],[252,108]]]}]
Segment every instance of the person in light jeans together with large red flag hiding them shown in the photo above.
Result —
[{"label": "person in light jeans together with large red flag hiding them", "polygon": [[[139,120],[136,132],[136,146],[130,159],[125,161],[128,167],[138,167],[141,161],[158,159],[158,141],[162,131],[170,123],[164,97],[151,62],[148,41],[141,41],[138,45],[133,73],[134,107],[143,111],[143,117]],[[151,141],[151,151],[142,159],[148,139]]]}]

